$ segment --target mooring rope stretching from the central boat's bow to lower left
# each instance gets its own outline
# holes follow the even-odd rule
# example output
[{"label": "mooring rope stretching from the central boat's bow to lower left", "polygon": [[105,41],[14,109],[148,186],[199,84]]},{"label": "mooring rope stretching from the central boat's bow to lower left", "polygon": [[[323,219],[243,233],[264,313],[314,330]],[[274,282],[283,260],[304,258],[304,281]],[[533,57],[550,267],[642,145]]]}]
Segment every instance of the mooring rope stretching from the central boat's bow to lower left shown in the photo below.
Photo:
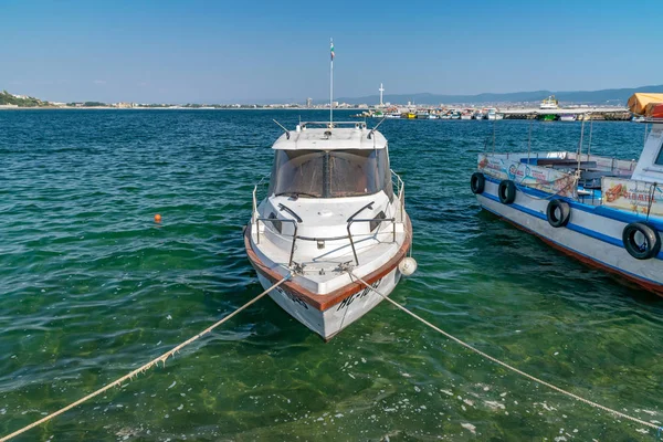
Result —
[{"label": "mooring rope stretching from the central boat's bow to lower left", "polygon": [[51,419],[73,409],[74,407],[80,406],[81,403],[94,398],[95,396],[99,396],[101,393],[103,393],[106,390],[109,390],[113,387],[117,387],[119,386],[122,382],[126,381],[126,380],[133,380],[133,378],[137,375],[140,375],[145,371],[147,371],[148,369],[150,369],[151,367],[154,367],[155,365],[157,365],[158,362],[164,364],[164,366],[166,366],[166,360],[171,357],[172,355],[175,355],[176,351],[181,350],[183,347],[188,346],[189,344],[193,343],[194,340],[201,338],[202,336],[207,335],[208,333],[210,333],[211,330],[213,330],[214,328],[217,328],[218,326],[220,326],[221,324],[225,323],[227,320],[229,320],[230,318],[232,318],[233,316],[235,316],[238,313],[242,312],[243,309],[245,309],[246,307],[249,307],[250,305],[252,305],[253,303],[257,302],[260,298],[262,298],[263,296],[265,296],[267,293],[270,293],[272,290],[278,287],[281,284],[283,284],[285,281],[287,281],[291,277],[291,274],[288,274],[287,276],[285,276],[283,280],[278,281],[276,284],[272,285],[270,288],[267,288],[266,291],[264,291],[263,293],[261,293],[260,295],[255,296],[253,299],[249,301],[246,304],[242,305],[240,308],[238,308],[236,311],[234,311],[233,313],[231,313],[230,315],[223,317],[222,319],[220,319],[219,322],[214,323],[213,325],[211,325],[210,327],[206,328],[204,330],[200,332],[198,335],[185,340],[182,344],[178,345],[177,347],[173,347],[171,350],[166,351],[164,355],[159,356],[156,359],[150,360],[149,362],[145,364],[144,366],[135,369],[134,371],[129,372],[128,375],[123,376],[122,378],[106,385],[105,387],[99,388],[98,390],[87,394],[84,398],[78,399],[75,402],[70,403],[66,407],[61,408],[60,410],[40,419],[39,421],[32,422],[29,425],[23,427],[20,430],[14,431],[11,434],[8,434],[6,436],[3,436],[2,439],[0,439],[0,442],[6,442],[9,441],[10,439],[15,438],[19,434],[24,433],[28,430],[31,430],[38,425],[41,425],[44,422],[50,421]]}]

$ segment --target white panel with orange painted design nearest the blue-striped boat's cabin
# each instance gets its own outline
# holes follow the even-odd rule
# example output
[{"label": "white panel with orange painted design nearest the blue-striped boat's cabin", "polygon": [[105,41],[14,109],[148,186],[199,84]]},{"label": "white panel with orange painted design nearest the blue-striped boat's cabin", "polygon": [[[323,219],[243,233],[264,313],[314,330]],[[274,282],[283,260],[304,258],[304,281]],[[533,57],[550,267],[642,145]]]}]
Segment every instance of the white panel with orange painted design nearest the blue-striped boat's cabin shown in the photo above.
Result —
[{"label": "white panel with orange painted design nearest the blue-striped boat's cabin", "polygon": [[607,207],[663,217],[663,188],[654,182],[603,177],[601,191]]}]

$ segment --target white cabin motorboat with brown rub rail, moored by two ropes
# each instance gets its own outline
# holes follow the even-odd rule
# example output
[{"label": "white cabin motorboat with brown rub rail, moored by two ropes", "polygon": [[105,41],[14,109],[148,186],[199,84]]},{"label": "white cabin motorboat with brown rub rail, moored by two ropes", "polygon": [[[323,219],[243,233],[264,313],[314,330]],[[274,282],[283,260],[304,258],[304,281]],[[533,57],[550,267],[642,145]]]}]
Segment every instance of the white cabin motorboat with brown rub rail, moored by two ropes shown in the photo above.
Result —
[{"label": "white cabin motorboat with brown rub rail, moored by two ropes", "polygon": [[389,168],[387,139],[365,123],[302,123],[272,146],[267,196],[244,245],[263,287],[302,324],[329,339],[375,307],[402,274],[412,225],[404,186]]}]

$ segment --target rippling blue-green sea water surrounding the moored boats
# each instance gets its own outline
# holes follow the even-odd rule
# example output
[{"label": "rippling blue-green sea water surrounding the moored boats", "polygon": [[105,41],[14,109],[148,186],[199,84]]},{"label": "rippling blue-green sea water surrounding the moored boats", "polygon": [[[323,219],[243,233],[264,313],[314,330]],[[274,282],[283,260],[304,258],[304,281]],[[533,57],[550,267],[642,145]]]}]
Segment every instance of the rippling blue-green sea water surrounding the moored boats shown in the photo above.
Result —
[{"label": "rippling blue-green sea water surrounding the moored boats", "polygon": [[[1,434],[261,292],[242,227],[280,135],[271,119],[294,127],[299,116],[327,118],[0,113]],[[392,298],[525,371],[663,422],[663,299],[480,212],[469,178],[491,125],[381,126],[406,181],[419,262]],[[497,122],[496,149],[526,150],[528,125]],[[534,123],[533,149],[575,150],[579,135],[580,123]],[[592,138],[593,152],[636,158],[643,127],[594,123]],[[267,298],[165,368],[18,440],[655,439],[644,431],[518,378],[387,304],[324,344]]]}]

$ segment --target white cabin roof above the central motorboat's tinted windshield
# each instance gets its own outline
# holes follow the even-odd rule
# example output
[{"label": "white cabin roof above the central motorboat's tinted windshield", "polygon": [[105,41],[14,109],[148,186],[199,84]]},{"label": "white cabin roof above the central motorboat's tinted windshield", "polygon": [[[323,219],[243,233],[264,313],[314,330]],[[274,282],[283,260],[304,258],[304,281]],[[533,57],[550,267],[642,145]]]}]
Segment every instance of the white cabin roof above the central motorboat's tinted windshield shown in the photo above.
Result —
[{"label": "white cabin roof above the central motorboat's tinted windshield", "polygon": [[307,127],[303,123],[297,129],[283,134],[272,149],[282,150],[337,150],[337,149],[383,149],[387,138],[378,130],[371,130],[362,123],[354,127]]}]

